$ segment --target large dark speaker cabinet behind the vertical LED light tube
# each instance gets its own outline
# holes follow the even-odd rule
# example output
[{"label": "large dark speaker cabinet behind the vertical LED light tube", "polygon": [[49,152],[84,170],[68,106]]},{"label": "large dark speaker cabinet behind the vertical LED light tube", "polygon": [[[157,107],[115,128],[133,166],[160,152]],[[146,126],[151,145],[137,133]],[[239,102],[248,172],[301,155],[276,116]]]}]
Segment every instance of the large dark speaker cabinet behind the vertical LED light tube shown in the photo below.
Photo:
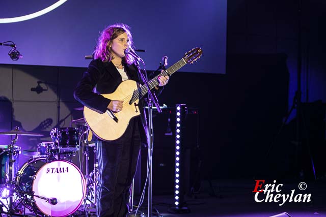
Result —
[{"label": "large dark speaker cabinet behind the vertical LED light tube", "polygon": [[[189,109],[183,121],[182,151],[184,152],[185,193],[193,191],[200,182],[200,151],[198,142],[198,112]],[[154,149],[152,157],[152,190],[154,195],[172,194],[175,170],[175,108],[154,113]],[[135,175],[134,193],[140,194],[147,176],[147,148],[141,151]]]}]

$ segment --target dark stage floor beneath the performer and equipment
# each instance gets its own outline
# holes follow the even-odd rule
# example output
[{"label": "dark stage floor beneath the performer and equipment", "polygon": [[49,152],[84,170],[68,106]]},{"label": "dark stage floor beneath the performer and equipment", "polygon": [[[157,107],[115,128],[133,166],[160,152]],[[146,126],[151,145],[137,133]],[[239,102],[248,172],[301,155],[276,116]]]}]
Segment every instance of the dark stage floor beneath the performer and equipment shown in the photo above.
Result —
[{"label": "dark stage floor beneath the performer and equipment", "polygon": [[[266,180],[267,182],[267,180]],[[266,183],[265,182],[265,183]],[[152,216],[166,216],[166,217],[264,217],[273,216],[283,212],[287,212],[292,217],[311,217],[311,216],[325,216],[326,217],[326,180],[319,180],[307,182],[307,189],[301,191],[298,189],[298,184],[301,181],[286,181],[279,186],[277,194],[285,196],[278,196],[276,192],[273,194],[274,202],[256,202],[255,193],[253,193],[256,182],[248,179],[228,179],[228,180],[212,180],[211,184],[204,180],[201,182],[201,189],[198,194],[192,196],[185,196],[185,202],[189,209],[189,213],[171,213],[169,208],[173,204],[173,195],[155,195],[153,191],[152,201]],[[277,187],[276,183],[275,189]],[[264,184],[263,184],[264,185]],[[259,188],[258,188],[259,189]],[[293,191],[294,190],[294,191]],[[289,202],[291,192],[294,192],[292,199],[298,200],[301,196],[303,200],[304,194],[310,194],[310,202]],[[265,196],[259,193],[259,200],[263,200]],[[282,197],[289,198],[283,205]],[[299,195],[299,196],[297,196]],[[134,205],[138,205],[140,196],[135,196]],[[271,198],[271,197],[270,197]],[[275,202],[277,200],[278,202]],[[72,216],[86,216],[83,206],[79,208]],[[143,205],[138,213],[144,213],[147,216],[147,197],[145,197]],[[26,215],[35,216],[26,209]],[[3,215],[5,216],[5,215]],[[15,215],[13,215],[15,216]],[[95,208],[90,208],[89,217],[95,216]],[[132,216],[132,215],[130,215]],[[280,216],[287,216],[286,214]]]}]

